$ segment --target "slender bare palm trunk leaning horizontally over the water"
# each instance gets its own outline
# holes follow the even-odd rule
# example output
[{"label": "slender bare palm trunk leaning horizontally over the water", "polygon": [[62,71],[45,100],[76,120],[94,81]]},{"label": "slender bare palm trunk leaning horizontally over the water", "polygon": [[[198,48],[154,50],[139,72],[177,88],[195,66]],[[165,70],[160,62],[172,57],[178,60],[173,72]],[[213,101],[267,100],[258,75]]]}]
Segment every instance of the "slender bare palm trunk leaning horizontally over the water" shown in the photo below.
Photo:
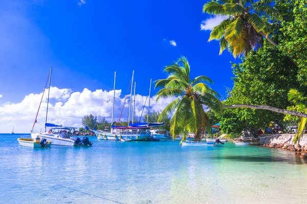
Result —
[{"label": "slender bare palm trunk leaning horizontally over the water", "polygon": [[288,110],[284,110],[284,109],[279,109],[279,108],[274,108],[271,106],[254,106],[254,105],[228,105],[228,106],[223,106],[223,108],[252,108],[252,109],[262,109],[262,110],[269,110],[269,111],[273,111],[276,113],[281,113],[281,114],[289,114],[289,115],[294,115],[297,117],[306,117],[307,118],[307,114],[306,113],[300,113],[297,111],[288,111]]}]

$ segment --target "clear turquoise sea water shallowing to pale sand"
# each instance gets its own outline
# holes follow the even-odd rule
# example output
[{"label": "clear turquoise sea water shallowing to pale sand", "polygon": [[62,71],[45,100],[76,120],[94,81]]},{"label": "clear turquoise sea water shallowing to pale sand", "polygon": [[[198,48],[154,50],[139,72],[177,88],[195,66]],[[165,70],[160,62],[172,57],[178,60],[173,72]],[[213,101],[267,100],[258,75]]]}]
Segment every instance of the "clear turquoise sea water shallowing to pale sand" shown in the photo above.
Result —
[{"label": "clear turquoise sea water shallowing to pale sand", "polygon": [[307,160],[253,146],[99,141],[32,149],[0,134],[1,203],[307,203]]}]

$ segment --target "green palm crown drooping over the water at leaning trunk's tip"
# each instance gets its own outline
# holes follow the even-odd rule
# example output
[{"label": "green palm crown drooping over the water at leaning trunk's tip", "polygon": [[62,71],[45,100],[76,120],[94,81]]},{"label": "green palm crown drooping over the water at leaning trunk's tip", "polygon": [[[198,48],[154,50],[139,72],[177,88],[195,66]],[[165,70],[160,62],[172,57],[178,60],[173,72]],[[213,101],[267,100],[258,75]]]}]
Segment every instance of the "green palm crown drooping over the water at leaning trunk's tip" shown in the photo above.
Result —
[{"label": "green palm crown drooping over the water at leaning trunk's tip", "polygon": [[176,63],[164,69],[168,73],[166,79],[155,81],[156,86],[162,88],[156,95],[160,98],[176,97],[159,116],[159,121],[173,113],[170,119],[170,133],[175,138],[183,133],[183,140],[187,132],[195,133],[195,140],[201,139],[201,129],[204,127],[211,132],[211,125],[204,110],[204,106],[216,113],[222,112],[222,103],[217,92],[209,87],[213,81],[207,76],[190,79],[190,65],[186,57],[181,57]]}]

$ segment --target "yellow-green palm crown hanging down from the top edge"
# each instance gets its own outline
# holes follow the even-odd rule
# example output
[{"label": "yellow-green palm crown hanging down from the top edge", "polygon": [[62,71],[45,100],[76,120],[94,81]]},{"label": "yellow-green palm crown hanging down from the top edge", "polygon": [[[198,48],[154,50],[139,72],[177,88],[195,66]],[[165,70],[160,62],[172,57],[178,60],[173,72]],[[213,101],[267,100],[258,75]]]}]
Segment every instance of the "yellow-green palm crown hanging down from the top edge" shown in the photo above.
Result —
[{"label": "yellow-green palm crown hanging down from the top edge", "polygon": [[219,40],[220,54],[228,48],[234,57],[242,53],[247,55],[252,49],[261,47],[263,36],[277,46],[268,36],[269,23],[261,18],[262,15],[276,13],[271,5],[270,0],[212,0],[206,3],[203,6],[204,13],[228,16],[213,28],[208,41]]}]

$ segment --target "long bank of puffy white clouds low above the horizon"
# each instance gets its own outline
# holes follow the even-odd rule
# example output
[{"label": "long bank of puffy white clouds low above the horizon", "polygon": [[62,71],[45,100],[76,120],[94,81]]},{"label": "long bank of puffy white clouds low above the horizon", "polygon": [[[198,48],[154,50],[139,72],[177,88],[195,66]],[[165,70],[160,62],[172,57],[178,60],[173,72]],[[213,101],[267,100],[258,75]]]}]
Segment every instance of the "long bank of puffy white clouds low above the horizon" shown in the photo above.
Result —
[{"label": "long bank of puffy white clouds low above the horizon", "polygon": [[[46,90],[40,111],[37,117],[37,123],[34,130],[44,129],[46,107],[47,107]],[[0,105],[0,130],[1,132],[10,132],[14,125],[17,133],[30,133],[33,126],[39,102],[42,93],[28,94],[19,103],[5,103]],[[150,111],[163,110],[174,98],[160,99],[156,102],[156,96],[150,98]],[[121,96],[121,90],[115,90],[115,111],[114,121],[118,121],[125,96]],[[140,119],[146,96],[136,95],[135,117]],[[111,121],[112,116],[113,90],[105,91],[98,89],[91,91],[84,89],[82,92],[72,92],[71,89],[59,89],[51,87],[49,97],[48,123],[55,123],[64,126],[81,127],[81,117],[87,114],[106,117]],[[121,121],[128,119],[128,103],[127,97]],[[148,99],[144,108],[143,117],[147,112]]]}]

